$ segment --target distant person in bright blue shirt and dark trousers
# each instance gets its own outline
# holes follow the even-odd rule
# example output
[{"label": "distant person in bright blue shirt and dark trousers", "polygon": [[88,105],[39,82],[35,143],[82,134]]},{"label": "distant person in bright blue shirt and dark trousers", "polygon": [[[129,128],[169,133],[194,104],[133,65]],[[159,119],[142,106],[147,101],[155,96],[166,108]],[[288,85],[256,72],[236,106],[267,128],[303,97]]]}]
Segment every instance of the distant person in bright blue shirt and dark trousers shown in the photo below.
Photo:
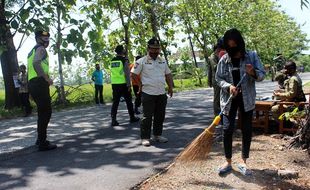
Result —
[{"label": "distant person in bright blue shirt and dark trousers", "polygon": [[95,83],[95,102],[99,106],[104,104],[103,100],[103,80],[104,75],[100,69],[100,65],[96,64],[96,70],[93,72],[91,80]]}]

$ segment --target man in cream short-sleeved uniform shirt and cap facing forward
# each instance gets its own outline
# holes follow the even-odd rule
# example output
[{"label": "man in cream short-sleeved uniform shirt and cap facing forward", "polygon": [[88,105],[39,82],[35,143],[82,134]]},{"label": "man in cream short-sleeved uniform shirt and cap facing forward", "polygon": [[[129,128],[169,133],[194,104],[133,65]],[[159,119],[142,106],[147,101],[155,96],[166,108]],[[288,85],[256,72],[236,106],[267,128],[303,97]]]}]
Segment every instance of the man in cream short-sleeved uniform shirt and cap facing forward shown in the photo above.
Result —
[{"label": "man in cream short-sleeved uniform shirt and cap facing forward", "polygon": [[159,57],[160,44],[156,38],[148,41],[148,54],[136,61],[131,70],[132,76],[141,76],[143,118],[140,125],[142,145],[150,146],[151,128],[153,124],[153,140],[157,142],[168,142],[161,136],[167,95],[165,82],[168,84],[168,94],[172,97],[173,80],[171,71],[166,61]]}]

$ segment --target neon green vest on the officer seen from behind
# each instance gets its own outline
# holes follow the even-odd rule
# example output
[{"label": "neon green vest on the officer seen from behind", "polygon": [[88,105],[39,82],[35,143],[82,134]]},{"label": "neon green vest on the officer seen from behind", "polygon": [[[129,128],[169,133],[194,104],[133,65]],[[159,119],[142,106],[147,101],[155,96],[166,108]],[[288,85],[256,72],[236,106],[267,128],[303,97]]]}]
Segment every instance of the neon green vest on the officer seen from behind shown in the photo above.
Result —
[{"label": "neon green vest on the officer seen from behind", "polygon": [[111,84],[126,83],[123,62],[120,60],[111,61]]}]

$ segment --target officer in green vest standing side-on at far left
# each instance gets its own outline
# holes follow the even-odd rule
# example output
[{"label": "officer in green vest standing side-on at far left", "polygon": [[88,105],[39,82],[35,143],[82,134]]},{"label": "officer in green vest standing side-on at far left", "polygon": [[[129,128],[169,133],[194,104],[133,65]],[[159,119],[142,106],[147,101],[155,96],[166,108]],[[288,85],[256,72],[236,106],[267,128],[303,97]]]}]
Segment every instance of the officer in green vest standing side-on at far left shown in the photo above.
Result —
[{"label": "officer in green vest standing side-on at far left", "polygon": [[57,145],[47,139],[47,126],[52,115],[49,86],[53,80],[49,76],[49,61],[46,48],[49,45],[50,34],[45,31],[35,32],[37,44],[28,54],[28,87],[30,95],[37,105],[37,141],[39,151],[52,150]]}]

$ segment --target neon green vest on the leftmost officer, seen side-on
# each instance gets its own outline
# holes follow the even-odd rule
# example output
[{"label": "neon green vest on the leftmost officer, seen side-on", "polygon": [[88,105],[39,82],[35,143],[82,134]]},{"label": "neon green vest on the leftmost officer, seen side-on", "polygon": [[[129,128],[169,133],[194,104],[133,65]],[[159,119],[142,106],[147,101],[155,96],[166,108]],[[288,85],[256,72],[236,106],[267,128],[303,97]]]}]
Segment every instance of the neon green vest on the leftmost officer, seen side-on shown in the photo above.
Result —
[{"label": "neon green vest on the leftmost officer, seen side-on", "polygon": [[[39,46],[35,46],[31,52],[28,54],[28,59],[27,59],[27,62],[28,62],[28,80],[31,80],[35,77],[37,77],[37,72],[34,70],[34,67],[33,67],[33,59],[34,59],[34,56],[35,56],[35,53],[36,53],[36,50]],[[42,69],[44,71],[45,74],[49,74],[49,67],[48,67],[48,55],[41,61],[41,66],[42,66]]]}]

